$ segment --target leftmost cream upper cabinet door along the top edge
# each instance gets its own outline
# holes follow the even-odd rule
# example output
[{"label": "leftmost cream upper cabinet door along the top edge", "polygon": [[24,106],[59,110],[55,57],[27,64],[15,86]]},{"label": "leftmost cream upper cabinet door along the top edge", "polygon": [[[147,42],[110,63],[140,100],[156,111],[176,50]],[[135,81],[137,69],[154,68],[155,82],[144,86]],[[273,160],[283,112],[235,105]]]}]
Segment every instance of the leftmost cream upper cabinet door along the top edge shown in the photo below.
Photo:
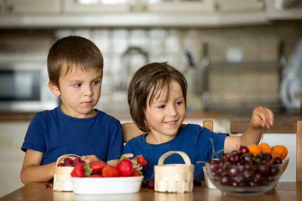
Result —
[{"label": "leftmost cream upper cabinet door along the top edge", "polygon": [[7,0],[7,14],[55,14],[60,11],[60,0]]}]

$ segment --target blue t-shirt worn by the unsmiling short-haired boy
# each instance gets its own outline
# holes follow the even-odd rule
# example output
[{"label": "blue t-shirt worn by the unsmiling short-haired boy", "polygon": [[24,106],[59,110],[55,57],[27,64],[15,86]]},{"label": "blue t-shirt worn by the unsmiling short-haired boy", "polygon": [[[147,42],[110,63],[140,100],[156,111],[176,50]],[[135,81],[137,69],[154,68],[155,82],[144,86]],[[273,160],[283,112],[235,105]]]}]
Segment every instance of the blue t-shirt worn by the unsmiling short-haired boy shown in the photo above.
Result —
[{"label": "blue t-shirt worn by the unsmiling short-haired boy", "polygon": [[44,153],[41,165],[55,162],[64,154],[96,155],[107,162],[121,157],[123,134],[120,122],[95,110],[90,118],[65,115],[60,107],[37,113],[21,147]]}]

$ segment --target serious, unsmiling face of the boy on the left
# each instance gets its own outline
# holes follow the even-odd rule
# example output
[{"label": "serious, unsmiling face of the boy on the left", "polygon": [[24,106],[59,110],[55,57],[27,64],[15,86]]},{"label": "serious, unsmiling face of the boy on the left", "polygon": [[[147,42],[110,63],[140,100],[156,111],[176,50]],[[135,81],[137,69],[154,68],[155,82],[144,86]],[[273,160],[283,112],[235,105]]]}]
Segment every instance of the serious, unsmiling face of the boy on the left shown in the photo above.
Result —
[{"label": "serious, unsmiling face of the boy on the left", "polygon": [[64,74],[59,78],[62,112],[76,118],[94,116],[96,112],[93,108],[101,94],[102,70],[82,71],[75,68]]}]

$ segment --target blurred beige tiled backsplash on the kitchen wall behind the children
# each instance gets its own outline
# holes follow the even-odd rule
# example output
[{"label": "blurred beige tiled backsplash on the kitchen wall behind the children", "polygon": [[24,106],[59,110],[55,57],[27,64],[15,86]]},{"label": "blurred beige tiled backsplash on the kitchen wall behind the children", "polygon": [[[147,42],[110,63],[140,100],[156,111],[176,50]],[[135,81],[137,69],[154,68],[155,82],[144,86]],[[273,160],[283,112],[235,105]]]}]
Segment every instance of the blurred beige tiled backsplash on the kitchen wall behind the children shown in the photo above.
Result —
[{"label": "blurred beige tiled backsplash on the kitchen wall behind the children", "polygon": [[[243,61],[274,60],[277,58],[280,40],[285,41],[285,55],[290,55],[295,43],[302,36],[302,22],[282,21],[271,25],[233,28],[3,30],[0,33],[0,51],[47,53],[55,40],[68,35],[80,35],[92,40],[104,56],[104,79],[98,108],[104,111],[128,111],[127,88],[121,86],[127,86],[131,74],[145,64],[143,55],[135,51],[129,54],[131,59],[123,57],[127,48],[134,46],[147,53],[147,62],[169,61],[179,67],[189,82],[188,107],[199,110],[202,109],[201,96],[193,92],[193,88],[198,86],[192,77],[195,69],[189,66],[185,51],[192,53],[197,68],[203,54],[203,42],[208,43],[210,61],[226,60],[228,55]],[[243,75],[247,76],[243,78]],[[278,98],[278,74],[275,71],[267,71],[261,73],[260,77],[259,75],[257,72],[247,72],[242,73],[240,78],[238,74],[213,71],[209,74],[210,88],[214,91],[211,96],[213,101],[222,96],[234,100],[234,103],[251,96],[255,98],[257,95],[266,96],[271,100]],[[219,88],[220,83],[228,83],[228,88],[236,88],[239,81],[241,93],[223,94],[214,90]],[[260,83],[262,86],[271,87],[271,93],[267,93],[267,90],[261,91]]]}]

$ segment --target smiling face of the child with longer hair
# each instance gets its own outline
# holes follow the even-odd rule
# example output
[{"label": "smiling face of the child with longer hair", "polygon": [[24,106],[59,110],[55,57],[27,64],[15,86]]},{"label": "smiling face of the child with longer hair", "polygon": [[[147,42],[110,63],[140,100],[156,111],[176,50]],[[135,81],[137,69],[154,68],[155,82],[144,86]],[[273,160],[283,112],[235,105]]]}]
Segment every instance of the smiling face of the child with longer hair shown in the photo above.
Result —
[{"label": "smiling face of the child with longer hair", "polygon": [[171,82],[170,96],[167,103],[164,101],[166,90],[163,90],[159,98],[154,99],[149,106],[150,95],[151,93],[147,97],[145,112],[150,133],[175,136],[185,119],[186,113],[185,100],[180,84],[176,81]]}]

